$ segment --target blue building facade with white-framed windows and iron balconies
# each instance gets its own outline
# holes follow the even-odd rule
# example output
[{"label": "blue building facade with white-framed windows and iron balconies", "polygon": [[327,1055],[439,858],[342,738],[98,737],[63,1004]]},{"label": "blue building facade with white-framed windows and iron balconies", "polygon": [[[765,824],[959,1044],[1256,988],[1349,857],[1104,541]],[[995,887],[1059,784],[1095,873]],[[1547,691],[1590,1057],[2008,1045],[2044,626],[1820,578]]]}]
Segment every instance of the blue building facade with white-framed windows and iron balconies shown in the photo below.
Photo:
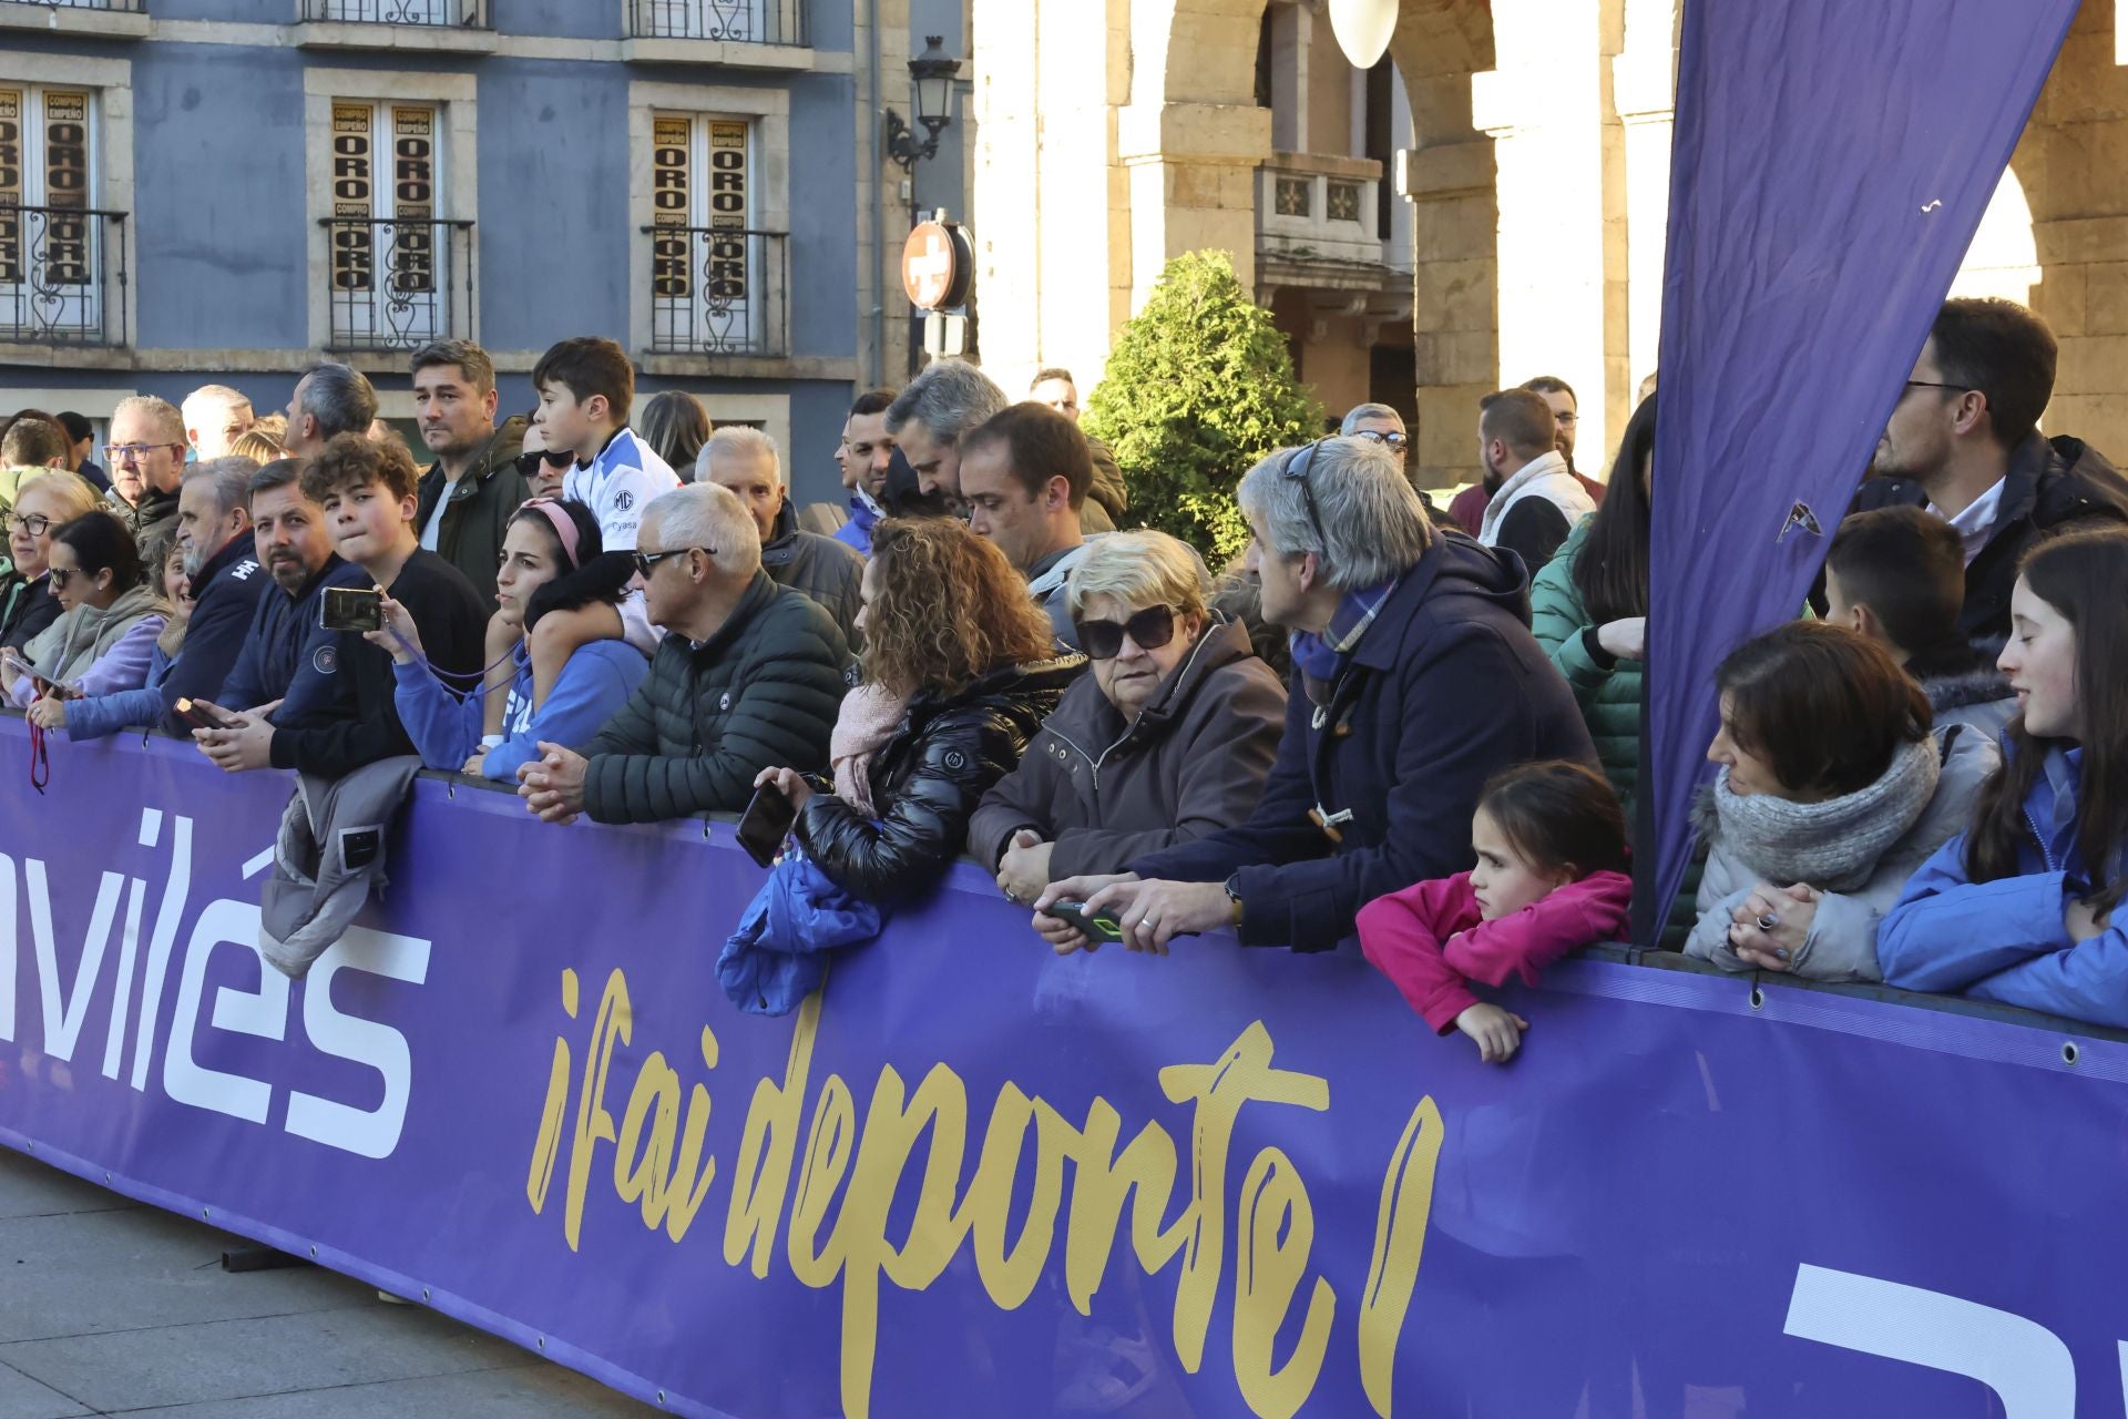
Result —
[{"label": "blue building facade with white-framed windows and iron balconies", "polygon": [[0,408],[347,360],[404,419],[462,336],[513,413],[604,334],[836,500],[907,368],[907,60],[909,0],[0,0]]}]

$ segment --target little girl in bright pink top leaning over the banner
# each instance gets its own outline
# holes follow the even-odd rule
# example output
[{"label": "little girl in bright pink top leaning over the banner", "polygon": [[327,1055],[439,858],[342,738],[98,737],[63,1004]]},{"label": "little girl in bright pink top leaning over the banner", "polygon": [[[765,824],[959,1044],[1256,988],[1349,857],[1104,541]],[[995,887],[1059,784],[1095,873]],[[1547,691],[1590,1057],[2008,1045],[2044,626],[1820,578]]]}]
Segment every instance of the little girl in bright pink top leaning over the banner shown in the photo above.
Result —
[{"label": "little girl in bright pink top leaning over the banner", "polygon": [[1534,985],[1575,947],[1626,928],[1626,815],[1581,764],[1517,764],[1479,794],[1470,845],[1470,872],[1368,902],[1360,947],[1436,1034],[1462,1030],[1483,1059],[1504,1064],[1530,1021],[1481,1002],[1470,983],[1519,974]]}]

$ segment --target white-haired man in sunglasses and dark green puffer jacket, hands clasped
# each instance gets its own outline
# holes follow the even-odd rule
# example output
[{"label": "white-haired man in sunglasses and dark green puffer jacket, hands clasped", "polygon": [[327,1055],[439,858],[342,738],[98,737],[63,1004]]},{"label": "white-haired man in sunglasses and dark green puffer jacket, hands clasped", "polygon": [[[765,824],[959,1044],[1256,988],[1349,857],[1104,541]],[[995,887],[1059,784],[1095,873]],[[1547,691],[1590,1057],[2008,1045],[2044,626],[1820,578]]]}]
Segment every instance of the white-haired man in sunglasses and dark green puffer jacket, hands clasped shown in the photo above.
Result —
[{"label": "white-haired man in sunglasses and dark green puffer jacket, hands clasped", "polygon": [[666,638],[589,745],[541,745],[517,770],[532,813],[549,823],[736,813],[764,768],[826,770],[855,679],[849,645],[819,602],[762,570],[745,504],[715,483],[664,494],[643,513],[634,557]]}]

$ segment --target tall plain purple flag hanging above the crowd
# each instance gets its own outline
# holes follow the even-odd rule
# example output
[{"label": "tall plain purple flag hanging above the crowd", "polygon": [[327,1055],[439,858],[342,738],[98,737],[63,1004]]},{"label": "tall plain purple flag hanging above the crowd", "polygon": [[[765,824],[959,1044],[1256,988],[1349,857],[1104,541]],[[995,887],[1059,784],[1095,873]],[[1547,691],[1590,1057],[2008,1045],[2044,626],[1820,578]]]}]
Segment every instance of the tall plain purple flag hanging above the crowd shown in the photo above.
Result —
[{"label": "tall plain purple flag hanging above the crowd", "polygon": [[1653,942],[1713,670],[1802,604],[2077,0],[1688,0],[1677,72],[1645,766]]}]

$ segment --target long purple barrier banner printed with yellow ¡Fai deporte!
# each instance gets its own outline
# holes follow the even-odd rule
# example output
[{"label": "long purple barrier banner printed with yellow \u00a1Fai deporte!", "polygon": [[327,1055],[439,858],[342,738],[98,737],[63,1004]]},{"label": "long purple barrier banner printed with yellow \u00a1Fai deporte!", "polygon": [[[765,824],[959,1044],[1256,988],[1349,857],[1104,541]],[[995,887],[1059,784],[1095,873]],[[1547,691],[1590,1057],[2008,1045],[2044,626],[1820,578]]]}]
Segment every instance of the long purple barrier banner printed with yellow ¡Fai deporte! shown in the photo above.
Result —
[{"label": "long purple barrier banner printed with yellow \u00a1Fai deporte!", "polygon": [[2119,1413],[2117,1042],[1568,962],[1492,1068],[1358,959],[1058,959],[972,868],[751,1019],[728,825],[440,781],[292,985],[287,791],[17,779],[0,1138],[675,1413]]}]

